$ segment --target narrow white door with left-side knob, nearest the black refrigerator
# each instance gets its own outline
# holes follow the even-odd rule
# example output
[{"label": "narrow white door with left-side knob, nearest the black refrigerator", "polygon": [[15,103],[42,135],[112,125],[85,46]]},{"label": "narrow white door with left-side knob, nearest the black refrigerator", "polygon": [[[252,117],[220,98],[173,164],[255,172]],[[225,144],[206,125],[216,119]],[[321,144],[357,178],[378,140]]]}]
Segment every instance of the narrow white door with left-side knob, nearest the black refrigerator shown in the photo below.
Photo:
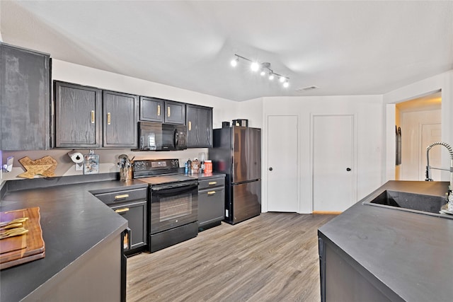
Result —
[{"label": "narrow white door with left-side knob, nearest the black refrigerator", "polygon": [[297,116],[268,116],[268,211],[299,211]]}]

